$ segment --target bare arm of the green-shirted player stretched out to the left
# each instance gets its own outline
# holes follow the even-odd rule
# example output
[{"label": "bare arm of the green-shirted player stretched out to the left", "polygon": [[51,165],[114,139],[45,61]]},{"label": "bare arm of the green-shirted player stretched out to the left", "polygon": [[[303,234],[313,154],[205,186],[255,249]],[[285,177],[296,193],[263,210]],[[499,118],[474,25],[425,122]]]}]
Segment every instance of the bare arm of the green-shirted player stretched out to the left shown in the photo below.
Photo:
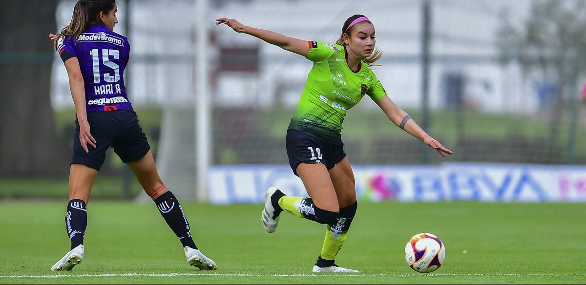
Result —
[{"label": "bare arm of the green-shirted player stretched out to the left", "polygon": [[216,19],[216,25],[220,24],[228,25],[237,33],[250,34],[251,36],[258,37],[258,39],[264,40],[267,43],[274,44],[284,50],[291,51],[299,55],[307,57],[309,54],[309,45],[306,40],[295,39],[294,37],[284,36],[279,33],[272,32],[270,30],[257,29],[255,27],[244,26],[234,19],[219,18]]}]

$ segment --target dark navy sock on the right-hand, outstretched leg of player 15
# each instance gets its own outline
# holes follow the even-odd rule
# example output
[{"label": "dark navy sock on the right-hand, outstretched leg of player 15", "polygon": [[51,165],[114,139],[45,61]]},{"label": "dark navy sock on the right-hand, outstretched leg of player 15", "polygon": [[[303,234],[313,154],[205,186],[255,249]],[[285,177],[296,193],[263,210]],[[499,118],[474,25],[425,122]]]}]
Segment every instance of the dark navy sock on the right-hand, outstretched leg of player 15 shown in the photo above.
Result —
[{"label": "dark navy sock on the right-hand, outstretched leg of player 15", "polygon": [[165,194],[162,194],[155,200],[155,204],[159,208],[161,216],[163,216],[169,225],[169,228],[175,232],[175,235],[179,238],[181,244],[183,244],[183,247],[189,246],[190,248],[197,249],[189,231],[187,218],[183,214],[183,208],[181,208],[175,195],[171,191],[165,192]]}]

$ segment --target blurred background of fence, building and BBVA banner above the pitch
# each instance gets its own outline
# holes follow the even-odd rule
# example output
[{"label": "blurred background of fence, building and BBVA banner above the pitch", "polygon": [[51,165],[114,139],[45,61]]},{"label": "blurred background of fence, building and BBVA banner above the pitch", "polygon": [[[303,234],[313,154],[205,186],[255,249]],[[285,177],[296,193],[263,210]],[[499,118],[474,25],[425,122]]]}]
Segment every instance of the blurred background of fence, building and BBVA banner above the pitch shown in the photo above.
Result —
[{"label": "blurred background of fence, building and BBVA banner above the pitch", "polygon": [[[47,39],[76,1],[2,1],[0,199],[66,199],[75,110]],[[119,0],[128,97],[159,172],[184,199],[304,194],[285,131],[312,62],[220,17],[333,43],[356,13],[376,28],[391,99],[455,152],[394,126],[369,98],[343,141],[360,199],[586,201],[586,1]],[[142,197],[113,151],[92,197]],[[139,198],[141,199],[141,198]]]}]

